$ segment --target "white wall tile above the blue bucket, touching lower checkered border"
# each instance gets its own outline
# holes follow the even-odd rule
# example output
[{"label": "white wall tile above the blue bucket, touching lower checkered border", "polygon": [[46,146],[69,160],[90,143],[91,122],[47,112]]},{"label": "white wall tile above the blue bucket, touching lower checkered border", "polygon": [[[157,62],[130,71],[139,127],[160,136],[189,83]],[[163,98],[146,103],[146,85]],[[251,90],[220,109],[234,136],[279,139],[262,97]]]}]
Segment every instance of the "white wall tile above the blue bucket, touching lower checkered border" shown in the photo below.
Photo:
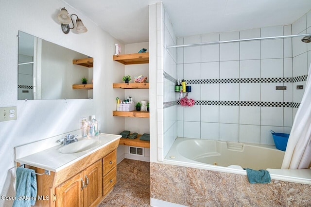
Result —
[{"label": "white wall tile above the blue bucket, touching lower checkered border", "polygon": [[260,125],[283,127],[283,108],[261,107]]}]

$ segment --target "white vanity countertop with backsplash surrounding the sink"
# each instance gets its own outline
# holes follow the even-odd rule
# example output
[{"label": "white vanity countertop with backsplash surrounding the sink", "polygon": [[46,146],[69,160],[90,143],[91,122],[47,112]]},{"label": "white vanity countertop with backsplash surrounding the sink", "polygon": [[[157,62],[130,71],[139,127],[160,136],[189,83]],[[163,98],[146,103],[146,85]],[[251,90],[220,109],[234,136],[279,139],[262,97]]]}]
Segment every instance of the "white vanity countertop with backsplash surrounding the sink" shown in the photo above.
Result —
[{"label": "white vanity countertop with backsplash surrounding the sink", "polygon": [[[42,168],[45,170],[57,172],[57,171],[64,169],[65,167],[68,167],[70,164],[96,152],[97,150],[108,145],[109,143],[113,143],[114,141],[120,139],[121,135],[100,134],[99,136],[86,138],[86,139],[98,140],[100,143],[93,148],[90,148],[86,151],[78,152],[78,153],[71,153],[71,154],[60,153],[58,151],[58,149],[62,147],[60,143],[58,143],[57,145],[53,145],[53,146],[49,145],[50,148],[44,149],[43,147],[42,151],[38,151],[37,149],[38,145],[46,146],[46,144],[51,143],[51,139],[52,139],[52,143],[54,143],[54,141],[57,140],[59,137],[60,136],[57,136],[56,138],[54,137],[54,138],[47,139],[46,142],[44,142],[45,140],[43,140],[43,141],[38,141],[35,143],[30,143],[30,144],[25,144],[22,146],[15,147],[14,149],[15,150],[15,161],[21,164],[27,164],[27,165]],[[83,140],[86,140],[86,139],[83,139]],[[78,138],[78,140],[80,141],[82,139]]]}]

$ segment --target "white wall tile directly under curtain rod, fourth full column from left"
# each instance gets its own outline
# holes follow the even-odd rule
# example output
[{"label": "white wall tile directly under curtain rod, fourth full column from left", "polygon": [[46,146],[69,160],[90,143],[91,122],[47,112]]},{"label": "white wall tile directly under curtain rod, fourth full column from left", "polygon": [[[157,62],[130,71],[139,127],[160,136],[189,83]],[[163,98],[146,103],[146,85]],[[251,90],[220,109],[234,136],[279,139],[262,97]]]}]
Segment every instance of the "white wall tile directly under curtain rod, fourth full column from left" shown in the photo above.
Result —
[{"label": "white wall tile directly under curtain rod, fourth full column from left", "polygon": [[240,43],[240,60],[260,59],[260,41]]}]

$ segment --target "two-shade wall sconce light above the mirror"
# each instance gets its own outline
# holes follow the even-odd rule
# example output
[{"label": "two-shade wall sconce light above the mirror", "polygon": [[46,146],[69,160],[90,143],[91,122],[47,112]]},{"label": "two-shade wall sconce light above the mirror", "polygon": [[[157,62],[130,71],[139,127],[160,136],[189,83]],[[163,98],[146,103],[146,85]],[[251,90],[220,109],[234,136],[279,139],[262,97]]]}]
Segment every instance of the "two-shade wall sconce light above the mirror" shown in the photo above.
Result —
[{"label": "two-shade wall sconce light above the mirror", "polygon": [[[65,33],[65,34],[68,34],[70,29],[73,29],[74,28],[74,23],[73,23],[73,20],[72,20],[72,16],[76,16],[77,19],[76,19],[76,25],[77,25],[77,32],[78,33],[85,33],[87,32],[87,29],[86,27],[84,26],[84,24],[82,23],[82,20],[75,14],[72,14],[69,16],[67,10],[64,8],[62,8],[60,10],[60,12],[58,13],[57,17],[58,17],[58,20],[60,23],[62,23],[62,31]],[[72,22],[72,28],[70,27],[70,22]]]}]

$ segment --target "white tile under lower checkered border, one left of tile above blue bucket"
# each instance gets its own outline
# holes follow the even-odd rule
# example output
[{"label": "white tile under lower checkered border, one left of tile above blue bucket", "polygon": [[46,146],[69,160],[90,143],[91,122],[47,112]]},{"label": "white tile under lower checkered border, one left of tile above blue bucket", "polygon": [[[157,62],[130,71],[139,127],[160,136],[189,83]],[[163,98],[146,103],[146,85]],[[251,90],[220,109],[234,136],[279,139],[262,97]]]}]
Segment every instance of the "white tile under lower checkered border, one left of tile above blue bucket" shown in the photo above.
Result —
[{"label": "white tile under lower checkered border, one left of tile above blue bucket", "polygon": [[260,125],[259,106],[240,106],[240,124]]}]

